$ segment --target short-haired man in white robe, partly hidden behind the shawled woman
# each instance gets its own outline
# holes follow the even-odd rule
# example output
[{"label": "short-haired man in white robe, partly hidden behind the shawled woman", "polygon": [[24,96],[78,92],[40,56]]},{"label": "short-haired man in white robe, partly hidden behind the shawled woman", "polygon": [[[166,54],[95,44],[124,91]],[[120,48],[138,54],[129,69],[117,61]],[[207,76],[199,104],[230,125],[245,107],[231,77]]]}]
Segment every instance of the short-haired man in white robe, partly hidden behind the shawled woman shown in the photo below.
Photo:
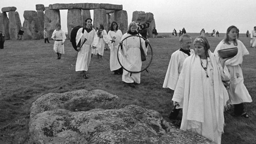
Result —
[{"label": "short-haired man in white robe, partly hidden behind the shawled woman", "polygon": [[[192,45],[192,39],[189,34],[183,34],[180,36],[180,49],[176,50],[172,55],[163,82],[163,88],[169,88],[175,90],[182,65],[184,60],[194,53],[194,50],[189,49]],[[182,107],[179,107],[182,108]],[[171,119],[176,119],[180,109],[173,109],[170,114]]]}]

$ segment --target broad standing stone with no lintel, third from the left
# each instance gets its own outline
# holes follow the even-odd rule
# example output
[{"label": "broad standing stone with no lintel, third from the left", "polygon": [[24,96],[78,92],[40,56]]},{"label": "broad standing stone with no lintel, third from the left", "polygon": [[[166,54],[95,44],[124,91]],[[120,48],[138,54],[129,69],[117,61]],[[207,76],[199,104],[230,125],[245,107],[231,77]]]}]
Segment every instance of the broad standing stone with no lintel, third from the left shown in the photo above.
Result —
[{"label": "broad standing stone with no lintel, third from the left", "polygon": [[24,17],[23,39],[24,40],[40,39],[39,30],[38,30],[37,12],[36,11],[24,11],[23,17]]}]

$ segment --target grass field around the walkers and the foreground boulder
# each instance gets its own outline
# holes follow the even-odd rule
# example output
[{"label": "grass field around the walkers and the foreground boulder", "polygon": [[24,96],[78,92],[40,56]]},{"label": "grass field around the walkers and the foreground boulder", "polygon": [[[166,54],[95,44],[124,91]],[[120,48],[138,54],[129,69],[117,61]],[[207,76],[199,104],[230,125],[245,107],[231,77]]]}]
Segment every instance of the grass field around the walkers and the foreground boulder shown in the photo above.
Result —
[{"label": "grass field around the walkers and the foreground boulder", "polygon": [[[195,39],[198,34],[191,33],[191,36]],[[212,52],[223,36],[207,37]],[[239,35],[239,39],[250,52],[244,57],[242,69],[245,86],[254,102],[245,104],[250,118],[234,117],[233,109],[225,112],[223,144],[256,143],[256,49],[249,47],[250,39],[245,35]],[[180,47],[178,37],[149,40],[154,58],[149,72],[141,73],[141,84],[135,88],[125,85],[121,75],[110,72],[109,51],[104,52],[103,59],[92,57],[87,73],[89,79],[83,79],[81,72],[74,70],[75,61],[69,69],[76,55],[69,40],[65,41],[65,54],[60,60],[53,52],[54,41],[50,44],[43,40],[6,41],[5,48],[0,50],[0,143],[26,143],[30,107],[37,98],[49,92],[102,89],[121,98],[113,107],[136,104],[154,109],[170,121],[173,91],[163,89],[162,85],[171,54]]]}]

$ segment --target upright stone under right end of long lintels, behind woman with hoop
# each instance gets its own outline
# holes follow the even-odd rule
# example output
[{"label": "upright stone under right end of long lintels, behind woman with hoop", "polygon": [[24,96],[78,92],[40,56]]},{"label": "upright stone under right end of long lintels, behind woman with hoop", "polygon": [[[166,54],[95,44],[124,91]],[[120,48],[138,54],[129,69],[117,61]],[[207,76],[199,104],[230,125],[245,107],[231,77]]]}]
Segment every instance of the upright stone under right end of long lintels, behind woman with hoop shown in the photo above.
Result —
[{"label": "upright stone under right end of long lintels, behind woman with hoop", "polygon": [[118,29],[121,30],[123,34],[128,31],[128,16],[126,11],[115,11],[114,20],[118,24]]}]

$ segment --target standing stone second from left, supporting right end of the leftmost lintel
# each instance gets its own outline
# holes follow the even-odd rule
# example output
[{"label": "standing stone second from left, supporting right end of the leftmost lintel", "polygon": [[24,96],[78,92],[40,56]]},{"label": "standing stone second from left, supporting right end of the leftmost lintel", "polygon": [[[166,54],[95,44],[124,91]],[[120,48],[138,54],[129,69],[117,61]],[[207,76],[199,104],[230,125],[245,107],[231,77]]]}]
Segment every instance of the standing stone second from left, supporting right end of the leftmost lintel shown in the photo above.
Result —
[{"label": "standing stone second from left, supporting right end of the leftmost lintel", "polygon": [[18,39],[18,32],[21,28],[20,16],[17,11],[9,11],[9,35],[11,40]]}]

